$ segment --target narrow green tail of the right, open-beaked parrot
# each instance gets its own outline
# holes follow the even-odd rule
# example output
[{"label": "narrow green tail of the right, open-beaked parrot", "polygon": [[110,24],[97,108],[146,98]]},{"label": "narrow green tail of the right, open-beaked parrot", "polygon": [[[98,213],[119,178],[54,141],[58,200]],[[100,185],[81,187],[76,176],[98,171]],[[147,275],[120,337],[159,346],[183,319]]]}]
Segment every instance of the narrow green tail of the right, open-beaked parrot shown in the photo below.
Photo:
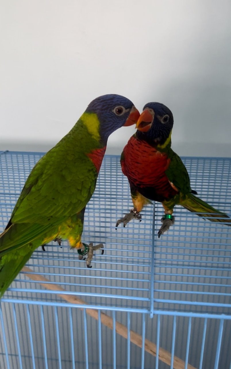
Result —
[{"label": "narrow green tail of the right, open-beaked parrot", "polygon": [[181,200],[180,205],[193,213],[202,213],[197,215],[199,215],[199,217],[207,218],[211,222],[230,223],[226,225],[231,226],[231,218],[227,214],[221,213],[221,211],[213,208],[205,201],[191,193],[187,194],[184,200]]}]

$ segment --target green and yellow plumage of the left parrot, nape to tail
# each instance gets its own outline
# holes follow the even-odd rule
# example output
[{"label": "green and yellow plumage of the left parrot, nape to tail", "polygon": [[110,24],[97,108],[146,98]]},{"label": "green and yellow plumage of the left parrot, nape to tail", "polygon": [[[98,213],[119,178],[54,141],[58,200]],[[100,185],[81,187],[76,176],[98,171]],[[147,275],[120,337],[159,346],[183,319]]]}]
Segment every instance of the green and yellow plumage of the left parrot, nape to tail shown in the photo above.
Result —
[{"label": "green and yellow plumage of the left parrot, nape to tail", "polygon": [[98,175],[88,154],[102,147],[97,115],[83,114],[35,165],[0,235],[0,296],[44,240],[59,232],[78,240]]}]

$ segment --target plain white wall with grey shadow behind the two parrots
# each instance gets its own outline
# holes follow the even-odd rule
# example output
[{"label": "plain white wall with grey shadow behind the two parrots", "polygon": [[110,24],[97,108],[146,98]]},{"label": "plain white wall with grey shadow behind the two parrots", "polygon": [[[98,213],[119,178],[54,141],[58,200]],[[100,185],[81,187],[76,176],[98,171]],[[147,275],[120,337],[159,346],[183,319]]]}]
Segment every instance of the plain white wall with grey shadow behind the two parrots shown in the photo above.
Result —
[{"label": "plain white wall with grey shadow behind the two parrots", "polygon": [[1,2],[0,149],[47,150],[118,93],[166,104],[180,155],[231,156],[230,13],[230,0]]}]

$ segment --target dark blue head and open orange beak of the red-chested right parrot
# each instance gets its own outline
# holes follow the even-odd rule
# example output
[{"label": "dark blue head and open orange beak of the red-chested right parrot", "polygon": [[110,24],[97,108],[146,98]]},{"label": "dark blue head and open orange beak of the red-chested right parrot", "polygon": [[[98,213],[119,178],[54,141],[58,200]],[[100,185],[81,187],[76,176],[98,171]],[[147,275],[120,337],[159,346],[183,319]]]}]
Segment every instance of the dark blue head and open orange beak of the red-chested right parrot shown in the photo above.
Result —
[{"label": "dark blue head and open orange beak of the red-chested right parrot", "polygon": [[167,146],[171,144],[173,114],[161,103],[148,103],[143,107],[137,123],[136,136],[152,145]]}]

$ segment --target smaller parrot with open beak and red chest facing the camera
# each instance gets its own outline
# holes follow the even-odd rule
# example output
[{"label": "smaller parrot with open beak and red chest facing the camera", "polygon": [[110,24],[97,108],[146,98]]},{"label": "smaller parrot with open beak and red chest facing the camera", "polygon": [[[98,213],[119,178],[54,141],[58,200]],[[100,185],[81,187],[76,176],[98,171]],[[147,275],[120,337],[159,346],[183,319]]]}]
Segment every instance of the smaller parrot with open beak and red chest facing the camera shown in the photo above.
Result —
[{"label": "smaller parrot with open beak and red chest facing the camera", "polygon": [[[141,221],[141,210],[152,201],[164,208],[158,237],[174,224],[173,209],[181,205],[212,222],[231,225],[227,214],[196,197],[188,172],[180,157],[171,149],[173,114],[164,104],[151,102],[144,106],[136,123],[137,131],[121,154],[122,172],[128,178],[134,208],[120,218],[124,227],[132,219]],[[150,201],[151,200],[151,201]]]}]

